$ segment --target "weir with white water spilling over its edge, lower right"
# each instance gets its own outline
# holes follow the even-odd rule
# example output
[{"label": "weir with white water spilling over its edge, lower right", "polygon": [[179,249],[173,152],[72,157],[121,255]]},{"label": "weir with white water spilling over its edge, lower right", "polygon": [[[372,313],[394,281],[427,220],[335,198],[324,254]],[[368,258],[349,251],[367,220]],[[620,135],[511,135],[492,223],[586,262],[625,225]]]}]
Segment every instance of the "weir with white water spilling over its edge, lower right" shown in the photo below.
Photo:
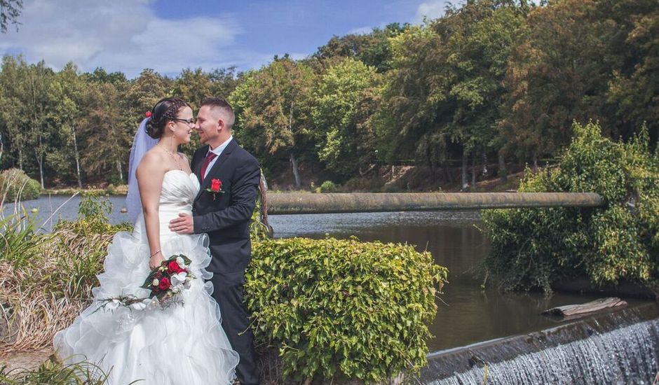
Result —
[{"label": "weir with white water spilling over its edge, lower right", "polygon": [[430,353],[423,384],[652,384],[659,306]]}]

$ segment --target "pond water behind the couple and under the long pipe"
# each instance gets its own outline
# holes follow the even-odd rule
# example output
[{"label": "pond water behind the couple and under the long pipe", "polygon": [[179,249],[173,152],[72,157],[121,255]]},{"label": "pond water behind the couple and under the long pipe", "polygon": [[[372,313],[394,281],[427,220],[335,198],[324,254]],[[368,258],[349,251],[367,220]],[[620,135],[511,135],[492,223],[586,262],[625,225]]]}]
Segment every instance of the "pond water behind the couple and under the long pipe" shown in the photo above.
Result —
[{"label": "pond water behind the couple and under the long pipe", "polygon": [[[50,231],[57,218],[76,218],[79,197],[41,197],[22,205],[34,214],[43,231]],[[111,223],[128,221],[121,214],[124,197],[110,197]],[[4,207],[4,213],[13,211]],[[55,214],[53,215],[53,212]],[[501,293],[491,285],[482,288],[482,261],[489,251],[477,211],[390,212],[360,214],[306,214],[270,216],[276,237],[337,238],[356,236],[362,241],[407,242],[428,250],[437,264],[449,269],[449,283],[437,301],[438,311],[430,330],[430,351],[464,346],[498,337],[531,332],[557,325],[541,316],[549,307],[594,300],[595,295]],[[639,301],[629,300],[630,304]]]}]

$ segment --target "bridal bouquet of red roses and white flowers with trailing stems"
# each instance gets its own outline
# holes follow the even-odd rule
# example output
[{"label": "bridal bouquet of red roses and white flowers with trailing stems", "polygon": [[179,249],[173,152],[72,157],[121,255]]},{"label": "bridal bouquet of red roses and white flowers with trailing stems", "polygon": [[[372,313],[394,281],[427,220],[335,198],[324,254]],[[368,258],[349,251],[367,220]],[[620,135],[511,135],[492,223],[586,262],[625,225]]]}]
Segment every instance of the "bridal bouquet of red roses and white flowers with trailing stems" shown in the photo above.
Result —
[{"label": "bridal bouquet of red roses and white flowers with trailing stems", "polygon": [[151,290],[148,298],[138,298],[135,295],[120,295],[104,298],[99,309],[114,310],[124,306],[135,310],[164,309],[171,304],[183,303],[181,294],[189,289],[195,276],[190,272],[190,260],[183,254],[172,255],[163,260],[161,266],[151,270],[141,288]]}]

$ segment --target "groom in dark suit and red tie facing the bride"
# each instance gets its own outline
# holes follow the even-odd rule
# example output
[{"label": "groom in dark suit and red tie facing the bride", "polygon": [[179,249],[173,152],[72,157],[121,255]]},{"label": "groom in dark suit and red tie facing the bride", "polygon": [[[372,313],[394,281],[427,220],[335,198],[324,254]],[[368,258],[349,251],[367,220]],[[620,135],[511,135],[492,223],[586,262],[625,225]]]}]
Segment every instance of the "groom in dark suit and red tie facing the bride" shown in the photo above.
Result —
[{"label": "groom in dark suit and red tie facing the bride", "polygon": [[212,296],[222,311],[222,328],[240,355],[236,376],[242,385],[258,384],[252,330],[243,305],[245,267],[250,262],[250,218],[257,199],[261,171],[257,160],[231,136],[235,117],[224,99],[201,102],[195,128],[203,146],[191,168],[201,188],[192,216],[179,214],[170,229],[208,234],[213,273]]}]

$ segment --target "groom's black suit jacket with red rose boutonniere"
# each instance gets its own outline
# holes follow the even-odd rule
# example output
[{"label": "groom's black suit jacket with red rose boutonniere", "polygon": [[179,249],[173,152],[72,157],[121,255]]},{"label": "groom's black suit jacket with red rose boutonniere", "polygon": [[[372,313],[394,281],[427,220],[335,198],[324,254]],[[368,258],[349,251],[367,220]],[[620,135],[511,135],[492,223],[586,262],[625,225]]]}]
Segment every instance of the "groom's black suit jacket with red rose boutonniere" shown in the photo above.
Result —
[{"label": "groom's black suit jacket with red rose boutonniere", "polygon": [[[201,182],[201,165],[208,146],[192,157],[192,170]],[[212,260],[210,272],[239,272],[251,258],[250,218],[257,200],[259,162],[232,139],[201,182],[194,200],[194,232],[208,234]],[[224,194],[206,191],[212,179],[222,181]]]}]

